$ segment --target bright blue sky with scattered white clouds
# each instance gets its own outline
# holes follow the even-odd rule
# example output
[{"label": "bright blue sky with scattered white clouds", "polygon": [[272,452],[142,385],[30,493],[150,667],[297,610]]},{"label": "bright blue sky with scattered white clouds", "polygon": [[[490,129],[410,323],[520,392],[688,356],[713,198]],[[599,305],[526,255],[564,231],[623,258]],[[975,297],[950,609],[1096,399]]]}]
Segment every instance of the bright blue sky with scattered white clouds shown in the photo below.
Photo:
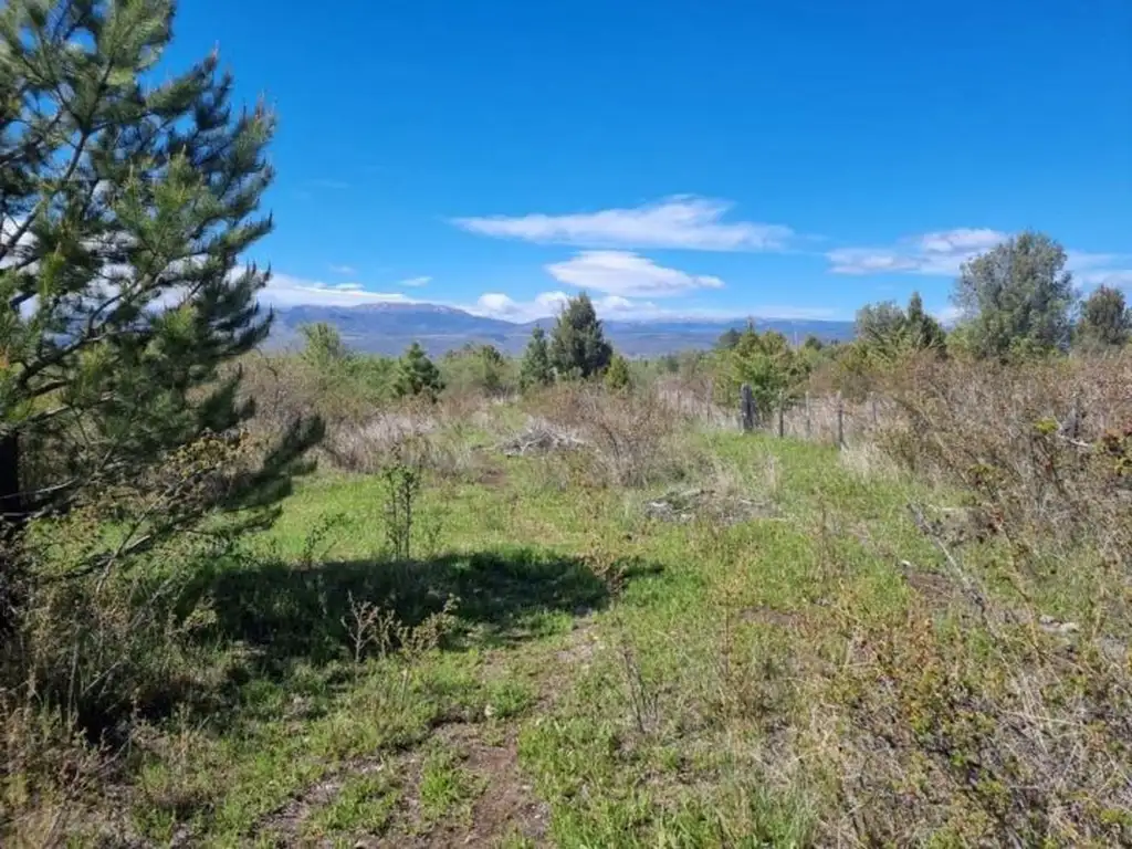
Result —
[{"label": "bright blue sky with scattered white clouds", "polygon": [[1127,0],[187,0],[280,130],[273,303],[850,318],[1036,228],[1132,286]]}]

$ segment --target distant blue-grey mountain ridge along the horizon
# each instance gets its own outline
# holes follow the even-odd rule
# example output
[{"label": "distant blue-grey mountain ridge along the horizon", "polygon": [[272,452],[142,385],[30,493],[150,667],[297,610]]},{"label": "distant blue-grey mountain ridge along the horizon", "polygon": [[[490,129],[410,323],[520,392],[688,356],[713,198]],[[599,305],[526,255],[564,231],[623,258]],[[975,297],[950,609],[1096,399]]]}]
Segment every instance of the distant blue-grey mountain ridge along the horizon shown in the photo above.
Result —
[{"label": "distant blue-grey mountain ridge along the horizon", "polygon": [[[276,309],[268,348],[278,350],[299,345],[299,328],[316,321],[337,327],[343,341],[355,351],[397,354],[415,341],[434,357],[468,343],[492,344],[505,353],[517,354],[526,346],[533,327],[541,325],[549,329],[554,324],[554,319],[549,318],[515,323],[473,316],[456,307],[437,303],[303,305]],[[825,342],[843,342],[854,336],[852,321],[787,318],[756,318],[754,321],[760,331],[779,331],[798,343],[809,334]],[[728,328],[741,329],[746,324],[746,319],[739,318],[603,321],[606,335],[628,357],[655,357],[711,348]]]}]

